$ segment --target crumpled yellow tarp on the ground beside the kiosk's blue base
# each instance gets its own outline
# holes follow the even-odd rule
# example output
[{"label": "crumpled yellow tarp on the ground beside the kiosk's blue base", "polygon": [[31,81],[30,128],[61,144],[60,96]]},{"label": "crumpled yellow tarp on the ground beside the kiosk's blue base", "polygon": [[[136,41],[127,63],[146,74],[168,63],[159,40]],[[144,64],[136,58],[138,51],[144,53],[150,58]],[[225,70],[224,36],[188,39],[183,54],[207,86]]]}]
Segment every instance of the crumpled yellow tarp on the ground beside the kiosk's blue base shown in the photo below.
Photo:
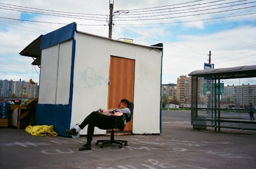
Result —
[{"label": "crumpled yellow tarp on the ground beside the kiosk's blue base", "polygon": [[34,136],[56,136],[56,135],[58,135],[58,133],[56,133],[53,130],[52,125],[50,125],[50,126],[47,126],[47,125],[27,126],[25,131]]}]

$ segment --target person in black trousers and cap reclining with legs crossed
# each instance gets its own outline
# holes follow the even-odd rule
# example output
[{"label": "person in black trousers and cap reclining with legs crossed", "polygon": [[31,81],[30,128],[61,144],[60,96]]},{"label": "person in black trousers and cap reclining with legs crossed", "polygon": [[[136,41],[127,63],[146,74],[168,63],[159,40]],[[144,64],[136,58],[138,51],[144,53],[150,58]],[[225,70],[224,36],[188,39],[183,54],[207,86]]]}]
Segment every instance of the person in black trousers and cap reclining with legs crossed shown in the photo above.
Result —
[{"label": "person in black trousers and cap reclining with legs crossed", "polygon": [[118,116],[121,118],[122,114],[129,116],[131,114],[130,109],[128,108],[129,101],[127,99],[122,99],[117,106],[117,108],[110,110],[98,110],[93,111],[86,118],[84,118],[83,122],[80,125],[76,125],[75,128],[66,130],[66,133],[70,135],[77,135],[78,132],[88,125],[87,130],[87,143],[83,145],[79,150],[91,150],[91,142],[93,139],[94,127],[104,126],[111,127],[111,125],[117,123]]}]

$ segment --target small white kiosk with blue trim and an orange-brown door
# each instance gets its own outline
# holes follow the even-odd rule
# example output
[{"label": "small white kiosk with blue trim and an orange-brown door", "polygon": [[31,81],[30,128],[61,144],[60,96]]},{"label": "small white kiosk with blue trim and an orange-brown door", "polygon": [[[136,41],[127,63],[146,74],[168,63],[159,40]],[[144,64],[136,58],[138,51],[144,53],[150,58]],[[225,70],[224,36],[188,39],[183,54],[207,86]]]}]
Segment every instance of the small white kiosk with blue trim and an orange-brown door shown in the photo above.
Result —
[{"label": "small white kiosk with blue trim and an orange-brown door", "polygon": [[[40,66],[36,125],[53,125],[62,136],[92,111],[134,103],[125,131],[161,133],[163,44],[144,46],[76,30],[76,23],[41,35],[20,55]],[[105,134],[95,128],[94,134]],[[87,128],[80,134],[87,134]]]}]

